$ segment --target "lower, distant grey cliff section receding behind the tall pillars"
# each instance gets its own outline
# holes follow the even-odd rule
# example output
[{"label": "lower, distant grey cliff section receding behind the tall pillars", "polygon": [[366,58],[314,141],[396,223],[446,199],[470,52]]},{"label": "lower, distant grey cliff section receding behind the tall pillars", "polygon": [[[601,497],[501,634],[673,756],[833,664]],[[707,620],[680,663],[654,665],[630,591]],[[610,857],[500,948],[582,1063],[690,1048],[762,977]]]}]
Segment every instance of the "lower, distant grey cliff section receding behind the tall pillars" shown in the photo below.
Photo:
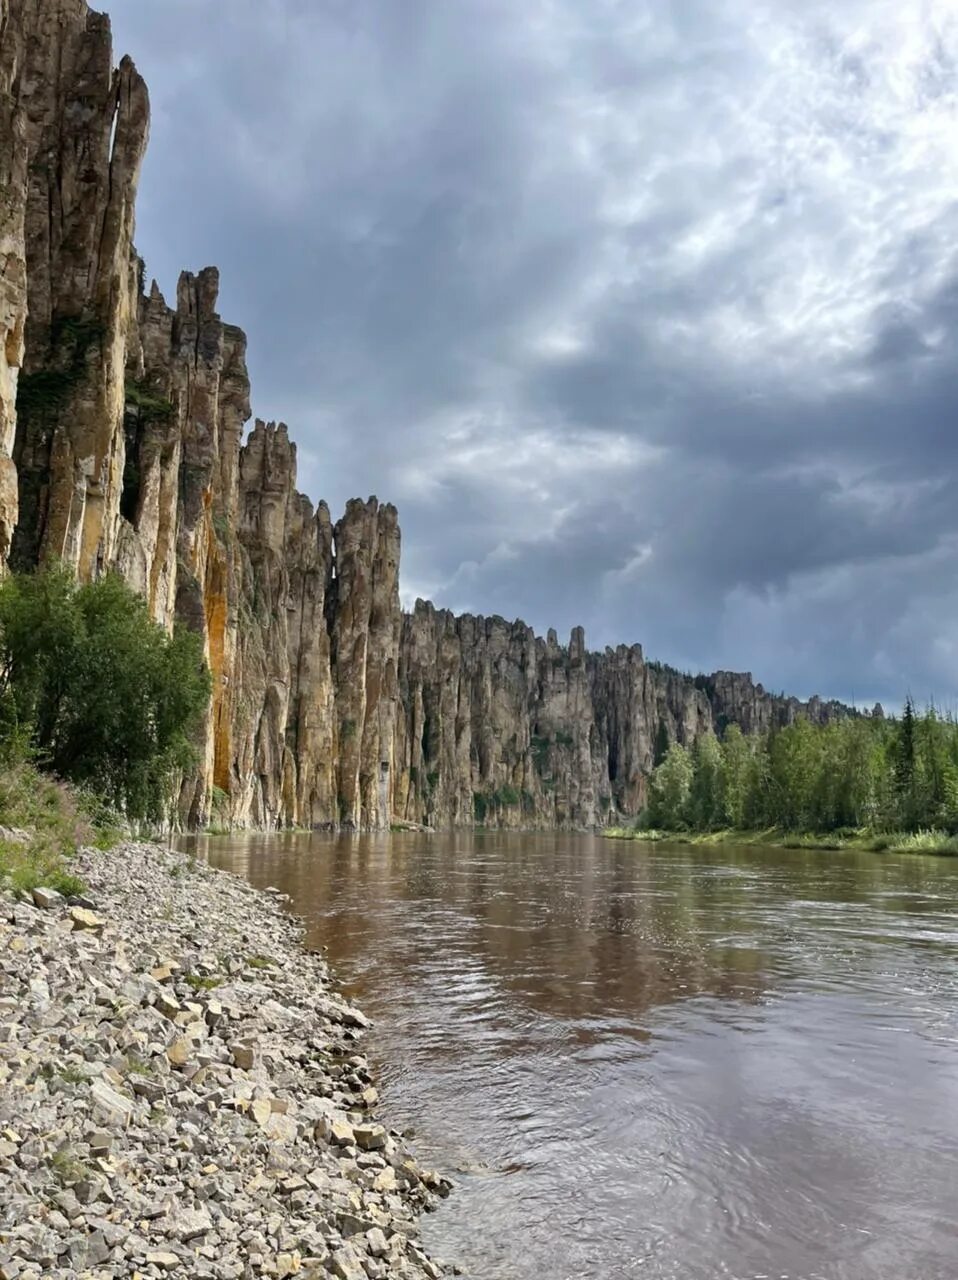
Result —
[{"label": "lower, distant grey cliff section receding behind the tall pillars", "polygon": [[747,731],[845,709],[775,698],[751,676],[685,676],[640,645],[589,653],[523,622],[455,617],[419,600],[403,618],[396,814],[429,826],[592,827],[637,815],[669,742],[733,721]]}]

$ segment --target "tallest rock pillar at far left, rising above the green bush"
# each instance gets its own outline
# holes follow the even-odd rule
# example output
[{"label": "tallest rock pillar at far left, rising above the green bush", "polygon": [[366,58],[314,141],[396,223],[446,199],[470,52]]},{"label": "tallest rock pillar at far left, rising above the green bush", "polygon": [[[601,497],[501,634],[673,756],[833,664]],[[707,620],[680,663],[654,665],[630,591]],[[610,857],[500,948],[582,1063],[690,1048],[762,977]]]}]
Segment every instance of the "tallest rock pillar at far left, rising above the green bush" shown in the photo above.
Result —
[{"label": "tallest rock pillar at far left, rising above the green bush", "polygon": [[10,0],[23,23],[28,316],[14,458],[14,561],[58,557],[87,579],[113,562],[123,388],[133,320],[133,205],[149,99],[113,67],[109,20],[85,0]]}]

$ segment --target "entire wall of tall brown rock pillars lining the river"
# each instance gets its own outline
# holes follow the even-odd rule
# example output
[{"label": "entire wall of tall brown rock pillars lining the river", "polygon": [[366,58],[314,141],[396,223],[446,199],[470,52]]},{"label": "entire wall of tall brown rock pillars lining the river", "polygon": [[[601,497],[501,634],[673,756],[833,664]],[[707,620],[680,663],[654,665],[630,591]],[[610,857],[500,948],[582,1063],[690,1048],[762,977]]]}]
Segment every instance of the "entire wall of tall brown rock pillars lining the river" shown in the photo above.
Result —
[{"label": "entire wall of tall brown rock pillars lining the river", "polygon": [[170,306],[133,247],[150,123],[86,0],[0,0],[0,561],[115,568],[214,677],[182,818],[382,829],[601,826],[637,814],[657,748],[835,703],[588,653],[521,622],[400,609],[396,508],[296,490],[283,424],[250,419],[219,275]]}]

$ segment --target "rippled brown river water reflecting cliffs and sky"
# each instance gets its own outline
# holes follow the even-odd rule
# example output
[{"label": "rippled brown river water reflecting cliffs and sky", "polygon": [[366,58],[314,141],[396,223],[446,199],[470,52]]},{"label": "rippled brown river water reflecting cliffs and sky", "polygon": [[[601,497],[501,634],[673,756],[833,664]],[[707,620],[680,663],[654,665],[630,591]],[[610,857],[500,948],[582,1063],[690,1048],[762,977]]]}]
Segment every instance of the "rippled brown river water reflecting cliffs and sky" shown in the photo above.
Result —
[{"label": "rippled brown river water reflecting cliffs and sky", "polygon": [[457,1183],[426,1242],[479,1280],[958,1276],[958,864],[202,847],[291,893],[377,1019],[389,1120]]}]

